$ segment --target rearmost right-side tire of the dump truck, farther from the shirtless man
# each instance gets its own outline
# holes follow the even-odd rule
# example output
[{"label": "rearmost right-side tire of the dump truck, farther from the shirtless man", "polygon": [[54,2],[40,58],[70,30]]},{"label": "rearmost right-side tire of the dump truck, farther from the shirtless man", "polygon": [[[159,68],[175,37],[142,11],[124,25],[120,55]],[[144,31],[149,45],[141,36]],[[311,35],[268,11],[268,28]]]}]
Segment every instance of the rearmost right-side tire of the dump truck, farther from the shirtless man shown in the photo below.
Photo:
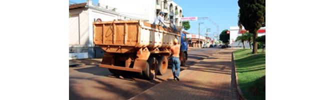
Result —
[{"label": "rearmost right-side tire of the dump truck, farther from the shirtless man", "polygon": [[154,57],[149,57],[146,62],[143,76],[148,80],[153,80],[156,76],[157,60]]}]

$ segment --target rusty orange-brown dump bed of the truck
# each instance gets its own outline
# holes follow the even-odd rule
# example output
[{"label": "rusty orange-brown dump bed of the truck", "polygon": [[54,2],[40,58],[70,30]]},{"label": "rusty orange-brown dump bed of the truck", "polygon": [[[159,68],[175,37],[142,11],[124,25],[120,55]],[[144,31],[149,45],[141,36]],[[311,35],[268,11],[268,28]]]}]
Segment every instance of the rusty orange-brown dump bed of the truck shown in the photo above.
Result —
[{"label": "rusty orange-brown dump bed of the truck", "polygon": [[170,48],[179,32],[141,20],[114,20],[93,22],[94,43],[106,52],[135,52],[136,48]]}]

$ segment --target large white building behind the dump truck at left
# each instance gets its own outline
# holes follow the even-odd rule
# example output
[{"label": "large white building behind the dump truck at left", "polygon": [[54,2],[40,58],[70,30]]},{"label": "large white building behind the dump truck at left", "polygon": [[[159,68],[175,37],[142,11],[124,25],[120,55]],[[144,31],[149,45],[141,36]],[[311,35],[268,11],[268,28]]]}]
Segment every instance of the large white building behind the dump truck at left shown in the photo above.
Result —
[{"label": "large white building behind the dump truck at left", "polygon": [[[92,22],[112,20],[144,20],[152,23],[160,11],[165,20],[182,16],[182,8],[167,0],[99,0],[93,5],[91,0],[85,3],[69,5],[69,59],[102,57],[103,50],[93,43]],[[177,13],[175,13],[177,12]],[[168,14],[172,13],[172,14]]]}]

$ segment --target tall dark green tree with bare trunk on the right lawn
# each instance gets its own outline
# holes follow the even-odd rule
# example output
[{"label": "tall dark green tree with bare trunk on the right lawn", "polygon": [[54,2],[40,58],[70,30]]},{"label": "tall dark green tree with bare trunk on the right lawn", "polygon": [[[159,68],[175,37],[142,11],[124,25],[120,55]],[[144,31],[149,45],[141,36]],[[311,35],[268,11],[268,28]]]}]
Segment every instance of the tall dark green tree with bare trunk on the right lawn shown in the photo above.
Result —
[{"label": "tall dark green tree with bare trunk on the right lawn", "polygon": [[253,54],[257,53],[257,31],[266,25],[265,5],[265,0],[238,0],[239,22],[246,30],[253,33]]}]

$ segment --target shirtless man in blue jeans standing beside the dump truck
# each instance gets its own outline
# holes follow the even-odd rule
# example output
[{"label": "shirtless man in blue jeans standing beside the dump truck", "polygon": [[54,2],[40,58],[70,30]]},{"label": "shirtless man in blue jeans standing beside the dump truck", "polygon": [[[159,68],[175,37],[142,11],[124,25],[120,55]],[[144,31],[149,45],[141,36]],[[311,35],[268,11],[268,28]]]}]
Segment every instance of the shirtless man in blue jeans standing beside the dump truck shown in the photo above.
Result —
[{"label": "shirtless man in blue jeans standing beside the dump truck", "polygon": [[[180,44],[178,44],[177,39],[174,39],[174,45],[170,47],[170,52],[172,57],[172,72],[173,72],[173,80],[180,80],[178,78],[180,73],[180,59],[179,59],[179,53],[180,53]],[[176,73],[175,73],[176,68]]]}]

